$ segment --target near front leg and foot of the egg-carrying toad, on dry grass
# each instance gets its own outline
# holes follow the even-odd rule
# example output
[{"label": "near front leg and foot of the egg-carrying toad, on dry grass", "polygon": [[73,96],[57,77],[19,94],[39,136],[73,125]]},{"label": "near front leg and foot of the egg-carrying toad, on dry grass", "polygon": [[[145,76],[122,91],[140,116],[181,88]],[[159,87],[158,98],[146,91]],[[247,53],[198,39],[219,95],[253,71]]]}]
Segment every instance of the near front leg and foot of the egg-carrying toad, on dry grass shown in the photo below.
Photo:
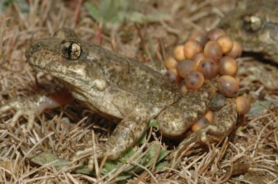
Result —
[{"label": "near front leg and foot of the egg-carrying toad, on dry grass", "polygon": [[97,145],[95,151],[92,147],[77,151],[72,159],[73,162],[79,160],[81,156],[90,153],[88,168],[92,170],[94,167],[94,158],[103,158],[104,156],[109,160],[119,158],[124,151],[131,148],[133,144],[136,144],[145,131],[147,131],[147,122],[149,121],[147,117],[147,113],[142,113],[124,118],[103,146]]}]

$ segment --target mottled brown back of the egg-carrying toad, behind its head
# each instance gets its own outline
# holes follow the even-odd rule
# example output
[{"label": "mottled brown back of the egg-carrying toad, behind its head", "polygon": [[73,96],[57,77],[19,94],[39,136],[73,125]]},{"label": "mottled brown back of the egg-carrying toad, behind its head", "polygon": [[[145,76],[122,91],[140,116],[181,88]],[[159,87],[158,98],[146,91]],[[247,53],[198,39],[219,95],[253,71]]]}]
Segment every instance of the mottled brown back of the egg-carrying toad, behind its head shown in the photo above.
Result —
[{"label": "mottled brown back of the egg-carrying toad, behind its head", "polygon": [[149,103],[172,101],[176,98],[177,85],[170,83],[167,76],[138,60],[126,58],[98,45],[90,45],[90,50],[99,56],[100,72],[111,87],[136,94]]}]

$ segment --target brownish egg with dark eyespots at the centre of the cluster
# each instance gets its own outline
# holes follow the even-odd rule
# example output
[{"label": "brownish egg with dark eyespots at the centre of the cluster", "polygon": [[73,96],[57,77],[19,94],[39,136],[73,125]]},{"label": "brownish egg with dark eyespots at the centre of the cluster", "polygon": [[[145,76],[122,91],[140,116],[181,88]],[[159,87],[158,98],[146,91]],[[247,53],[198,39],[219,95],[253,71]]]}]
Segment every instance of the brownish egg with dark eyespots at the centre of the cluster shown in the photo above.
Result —
[{"label": "brownish egg with dark eyespots at the centre of the cluster", "polygon": [[211,79],[218,74],[218,65],[212,59],[206,58],[199,63],[198,70],[204,74],[204,78]]}]

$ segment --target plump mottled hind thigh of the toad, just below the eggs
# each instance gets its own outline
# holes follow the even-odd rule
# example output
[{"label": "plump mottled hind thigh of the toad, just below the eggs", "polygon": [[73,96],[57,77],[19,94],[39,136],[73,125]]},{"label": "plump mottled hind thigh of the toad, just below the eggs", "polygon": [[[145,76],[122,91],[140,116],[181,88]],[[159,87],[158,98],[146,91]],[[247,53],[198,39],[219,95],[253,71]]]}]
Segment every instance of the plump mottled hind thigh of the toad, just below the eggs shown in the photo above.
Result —
[{"label": "plump mottled hind thigh of the toad, just below the eggs", "polygon": [[178,137],[201,118],[208,109],[215,87],[206,81],[199,90],[191,90],[177,103],[163,110],[156,120],[159,130],[167,137]]}]

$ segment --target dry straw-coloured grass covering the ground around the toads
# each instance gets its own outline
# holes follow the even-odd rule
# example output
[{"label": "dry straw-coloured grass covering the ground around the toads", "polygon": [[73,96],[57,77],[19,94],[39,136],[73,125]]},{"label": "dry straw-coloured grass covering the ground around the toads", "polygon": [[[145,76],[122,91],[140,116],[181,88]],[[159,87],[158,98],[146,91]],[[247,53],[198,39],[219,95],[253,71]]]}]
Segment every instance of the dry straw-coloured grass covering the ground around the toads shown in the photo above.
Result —
[{"label": "dry straw-coloured grass covering the ground around the toads", "polygon": [[[103,47],[146,62],[163,58],[161,43],[166,53],[170,53],[174,45],[186,40],[196,28],[213,28],[225,12],[234,8],[234,2],[228,0],[140,1],[138,7],[142,12],[166,12],[167,19],[152,24],[120,26],[99,36],[99,23],[88,16],[80,1],[29,2],[28,12],[22,12],[14,3],[1,15],[0,105],[30,97],[55,83],[51,76],[35,73],[28,66],[24,50],[31,40],[49,36],[62,26],[74,28],[84,40],[100,41]],[[250,62],[248,60],[252,59],[244,62]],[[244,62],[241,67],[245,66]],[[245,81],[240,93],[248,94],[253,102],[278,99],[277,92],[265,90],[256,81]],[[71,172],[82,162],[60,170],[51,163],[35,164],[28,156],[31,152],[50,150],[59,158],[70,160],[76,150],[105,142],[115,125],[99,119],[76,102],[57,110],[46,110],[36,119],[33,131],[27,130],[24,118],[15,129],[8,129],[5,124],[13,114],[5,113],[0,119],[0,183],[115,183],[122,170],[138,165],[138,158],[134,158],[120,169],[101,176],[99,163],[96,176],[88,176]],[[240,126],[229,139],[208,148],[193,149],[193,145],[183,151],[176,169],[154,172],[154,165],[140,166],[143,172],[139,176],[134,174],[129,183],[278,183],[277,122],[278,108],[265,107],[260,115],[241,118]],[[160,141],[161,137],[156,135],[149,131],[147,137]],[[146,142],[140,149],[149,147]]]}]

